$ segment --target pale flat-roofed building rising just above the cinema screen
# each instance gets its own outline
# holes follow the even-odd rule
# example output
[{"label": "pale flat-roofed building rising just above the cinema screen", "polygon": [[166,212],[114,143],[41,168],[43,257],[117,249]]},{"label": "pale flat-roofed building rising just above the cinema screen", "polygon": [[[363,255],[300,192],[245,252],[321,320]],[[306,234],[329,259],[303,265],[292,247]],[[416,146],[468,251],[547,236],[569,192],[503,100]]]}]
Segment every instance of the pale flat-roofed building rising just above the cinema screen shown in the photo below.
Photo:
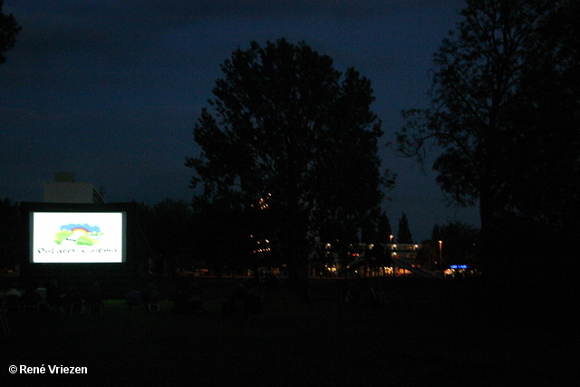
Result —
[{"label": "pale flat-roofed building rising just above the cinema screen", "polygon": [[104,203],[91,183],[74,181],[74,173],[55,172],[54,181],[44,183],[44,203]]}]

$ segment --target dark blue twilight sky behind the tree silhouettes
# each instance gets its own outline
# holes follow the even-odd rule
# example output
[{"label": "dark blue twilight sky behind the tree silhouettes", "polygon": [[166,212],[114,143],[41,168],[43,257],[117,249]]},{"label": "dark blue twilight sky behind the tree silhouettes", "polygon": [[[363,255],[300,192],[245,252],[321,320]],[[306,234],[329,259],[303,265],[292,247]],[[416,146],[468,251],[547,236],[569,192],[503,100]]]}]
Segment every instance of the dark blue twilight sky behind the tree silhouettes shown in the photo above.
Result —
[{"label": "dark blue twilight sky behind the tree silhouettes", "polygon": [[[426,107],[432,54],[460,0],[5,0],[23,31],[0,65],[0,198],[42,201],[53,172],[104,187],[107,200],[184,199],[198,154],[192,129],[239,46],[285,37],[353,66],[372,82],[383,142],[400,111]],[[435,223],[478,226],[449,208],[430,170],[382,147],[399,178],[384,208],[404,211],[415,241]],[[430,160],[432,162],[432,160]],[[428,166],[429,167],[429,166]],[[429,169],[429,168],[428,168]]]}]

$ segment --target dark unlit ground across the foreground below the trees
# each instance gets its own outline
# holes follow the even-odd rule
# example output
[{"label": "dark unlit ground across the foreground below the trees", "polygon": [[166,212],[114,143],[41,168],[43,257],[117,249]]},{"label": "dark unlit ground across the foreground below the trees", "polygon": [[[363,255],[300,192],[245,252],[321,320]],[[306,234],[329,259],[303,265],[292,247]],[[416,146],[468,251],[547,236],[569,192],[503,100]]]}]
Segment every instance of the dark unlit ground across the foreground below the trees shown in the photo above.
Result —
[{"label": "dark unlit ground across the foreground below the trees", "polygon": [[[118,300],[103,314],[10,312],[0,385],[573,385],[575,334],[561,317],[495,309],[477,284],[387,279],[389,305],[372,309],[337,305],[333,280],[312,280],[307,304],[281,283],[263,314],[224,319],[221,302],[238,282],[205,278],[205,313],[171,314],[170,301],[148,313]],[[46,373],[12,374],[11,365]],[[49,365],[87,373],[51,374]]]}]

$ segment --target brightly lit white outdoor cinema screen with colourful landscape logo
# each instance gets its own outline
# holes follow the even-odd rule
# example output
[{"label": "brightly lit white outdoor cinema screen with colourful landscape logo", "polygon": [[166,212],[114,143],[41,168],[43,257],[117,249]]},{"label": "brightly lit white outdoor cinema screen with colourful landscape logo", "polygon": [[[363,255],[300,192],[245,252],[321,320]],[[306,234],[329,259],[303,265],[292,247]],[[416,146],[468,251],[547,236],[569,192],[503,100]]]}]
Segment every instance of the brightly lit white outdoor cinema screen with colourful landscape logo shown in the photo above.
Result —
[{"label": "brightly lit white outdoor cinema screen with colourful landscape logo", "polygon": [[31,261],[121,263],[125,231],[125,212],[31,212]]}]

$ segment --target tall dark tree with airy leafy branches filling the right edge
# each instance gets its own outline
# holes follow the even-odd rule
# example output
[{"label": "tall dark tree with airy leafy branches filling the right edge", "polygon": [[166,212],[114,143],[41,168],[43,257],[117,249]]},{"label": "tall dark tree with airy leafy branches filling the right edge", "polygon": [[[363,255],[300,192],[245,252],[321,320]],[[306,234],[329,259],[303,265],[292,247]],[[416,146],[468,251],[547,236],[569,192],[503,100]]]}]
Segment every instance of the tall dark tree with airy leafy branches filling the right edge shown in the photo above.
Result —
[{"label": "tall dark tree with airy leafy branches filling the right edge", "polygon": [[440,147],[440,186],[461,206],[478,204],[488,274],[542,259],[524,266],[516,257],[526,254],[503,247],[578,229],[557,215],[579,201],[578,14],[569,0],[467,1],[435,53],[432,108],[403,112],[399,150],[423,160]]}]

